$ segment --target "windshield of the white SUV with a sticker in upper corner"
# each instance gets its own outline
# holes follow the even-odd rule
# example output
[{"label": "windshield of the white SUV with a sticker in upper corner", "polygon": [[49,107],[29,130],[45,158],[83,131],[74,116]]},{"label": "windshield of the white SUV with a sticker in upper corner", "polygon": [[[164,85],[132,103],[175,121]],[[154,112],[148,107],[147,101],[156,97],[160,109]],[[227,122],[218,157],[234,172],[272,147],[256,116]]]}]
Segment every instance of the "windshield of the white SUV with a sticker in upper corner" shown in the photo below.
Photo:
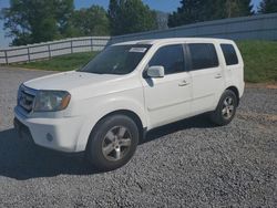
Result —
[{"label": "windshield of the white SUV with a sticker in upper corner", "polygon": [[150,46],[148,44],[109,46],[80,71],[96,74],[129,74],[135,70]]}]

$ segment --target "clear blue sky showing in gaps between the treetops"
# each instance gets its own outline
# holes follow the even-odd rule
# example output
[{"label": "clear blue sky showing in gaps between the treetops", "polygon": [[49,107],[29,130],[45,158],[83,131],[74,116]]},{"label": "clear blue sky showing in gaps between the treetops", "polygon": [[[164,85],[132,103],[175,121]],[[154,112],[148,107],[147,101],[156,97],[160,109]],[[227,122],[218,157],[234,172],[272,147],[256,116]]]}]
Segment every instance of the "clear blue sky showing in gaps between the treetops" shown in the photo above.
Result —
[{"label": "clear blue sky showing in gaps between the treetops", "polygon": [[[91,4],[99,4],[107,9],[109,0],[74,0],[75,9],[88,8]],[[172,12],[179,7],[179,0],[143,0],[151,9]],[[253,0],[254,8],[256,9],[260,0]],[[0,0],[0,9],[9,7],[9,0]],[[4,37],[3,21],[0,20],[0,48],[6,48],[11,42],[11,39]]]}]

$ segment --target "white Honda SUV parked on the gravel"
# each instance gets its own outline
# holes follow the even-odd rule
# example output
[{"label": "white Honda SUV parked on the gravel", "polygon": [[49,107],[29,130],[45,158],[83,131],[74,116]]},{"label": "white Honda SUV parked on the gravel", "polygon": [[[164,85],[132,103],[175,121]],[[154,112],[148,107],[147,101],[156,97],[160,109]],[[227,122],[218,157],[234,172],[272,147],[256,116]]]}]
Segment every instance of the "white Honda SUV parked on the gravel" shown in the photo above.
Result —
[{"label": "white Honda SUV parked on the gravel", "polygon": [[228,124],[243,92],[244,63],[233,41],[124,42],[81,70],[21,84],[14,126],[37,145],[85,150],[98,168],[114,169],[157,126],[206,112],[215,124]]}]

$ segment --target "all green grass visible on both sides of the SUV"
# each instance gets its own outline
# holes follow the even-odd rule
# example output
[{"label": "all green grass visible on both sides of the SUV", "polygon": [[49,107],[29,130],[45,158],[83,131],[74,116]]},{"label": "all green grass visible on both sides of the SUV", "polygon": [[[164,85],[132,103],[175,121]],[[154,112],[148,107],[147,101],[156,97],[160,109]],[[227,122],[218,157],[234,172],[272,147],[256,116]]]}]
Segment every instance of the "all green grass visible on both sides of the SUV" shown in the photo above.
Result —
[{"label": "all green grass visible on both sides of the SUV", "polygon": [[[238,41],[238,48],[245,62],[245,81],[250,83],[277,82],[277,42]],[[96,52],[74,53],[57,56],[51,60],[37,61],[17,66],[38,70],[69,71],[79,69]]]}]

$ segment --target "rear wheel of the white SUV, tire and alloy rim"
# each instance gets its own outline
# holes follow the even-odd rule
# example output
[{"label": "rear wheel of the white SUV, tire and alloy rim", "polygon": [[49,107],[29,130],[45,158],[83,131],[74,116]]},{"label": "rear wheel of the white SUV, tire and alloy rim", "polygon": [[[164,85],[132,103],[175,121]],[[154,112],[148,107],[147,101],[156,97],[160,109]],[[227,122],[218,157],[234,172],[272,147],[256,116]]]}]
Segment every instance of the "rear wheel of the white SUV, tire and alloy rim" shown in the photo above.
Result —
[{"label": "rear wheel of the white SUV, tire and alloy rim", "polygon": [[236,114],[237,96],[233,91],[226,90],[214,112],[211,113],[211,119],[214,124],[224,126],[232,122]]}]

